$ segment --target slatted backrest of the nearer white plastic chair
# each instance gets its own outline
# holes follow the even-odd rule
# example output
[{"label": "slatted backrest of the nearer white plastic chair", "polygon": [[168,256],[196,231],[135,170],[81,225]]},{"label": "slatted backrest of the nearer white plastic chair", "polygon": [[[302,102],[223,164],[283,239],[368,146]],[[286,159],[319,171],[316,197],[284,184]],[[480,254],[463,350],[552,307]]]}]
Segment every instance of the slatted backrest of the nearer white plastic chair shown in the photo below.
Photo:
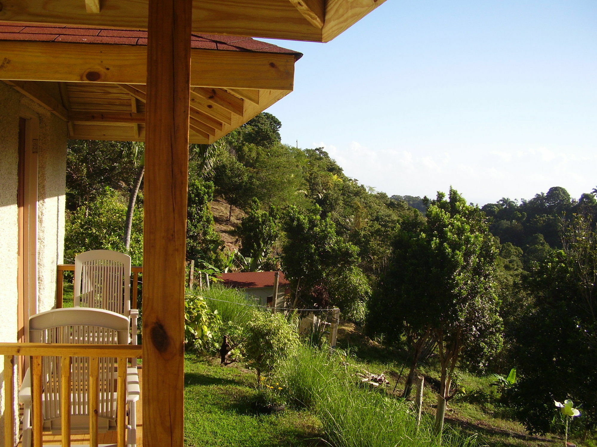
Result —
[{"label": "slatted backrest of the nearer white plastic chair", "polygon": [[[32,343],[128,344],[128,326],[126,316],[103,309],[53,309],[29,318],[29,336]],[[99,416],[109,420],[116,420],[115,365],[99,359]],[[60,368],[60,357],[43,357],[45,421],[60,417]],[[71,414],[88,415],[88,358],[73,357],[70,368]]]}]

